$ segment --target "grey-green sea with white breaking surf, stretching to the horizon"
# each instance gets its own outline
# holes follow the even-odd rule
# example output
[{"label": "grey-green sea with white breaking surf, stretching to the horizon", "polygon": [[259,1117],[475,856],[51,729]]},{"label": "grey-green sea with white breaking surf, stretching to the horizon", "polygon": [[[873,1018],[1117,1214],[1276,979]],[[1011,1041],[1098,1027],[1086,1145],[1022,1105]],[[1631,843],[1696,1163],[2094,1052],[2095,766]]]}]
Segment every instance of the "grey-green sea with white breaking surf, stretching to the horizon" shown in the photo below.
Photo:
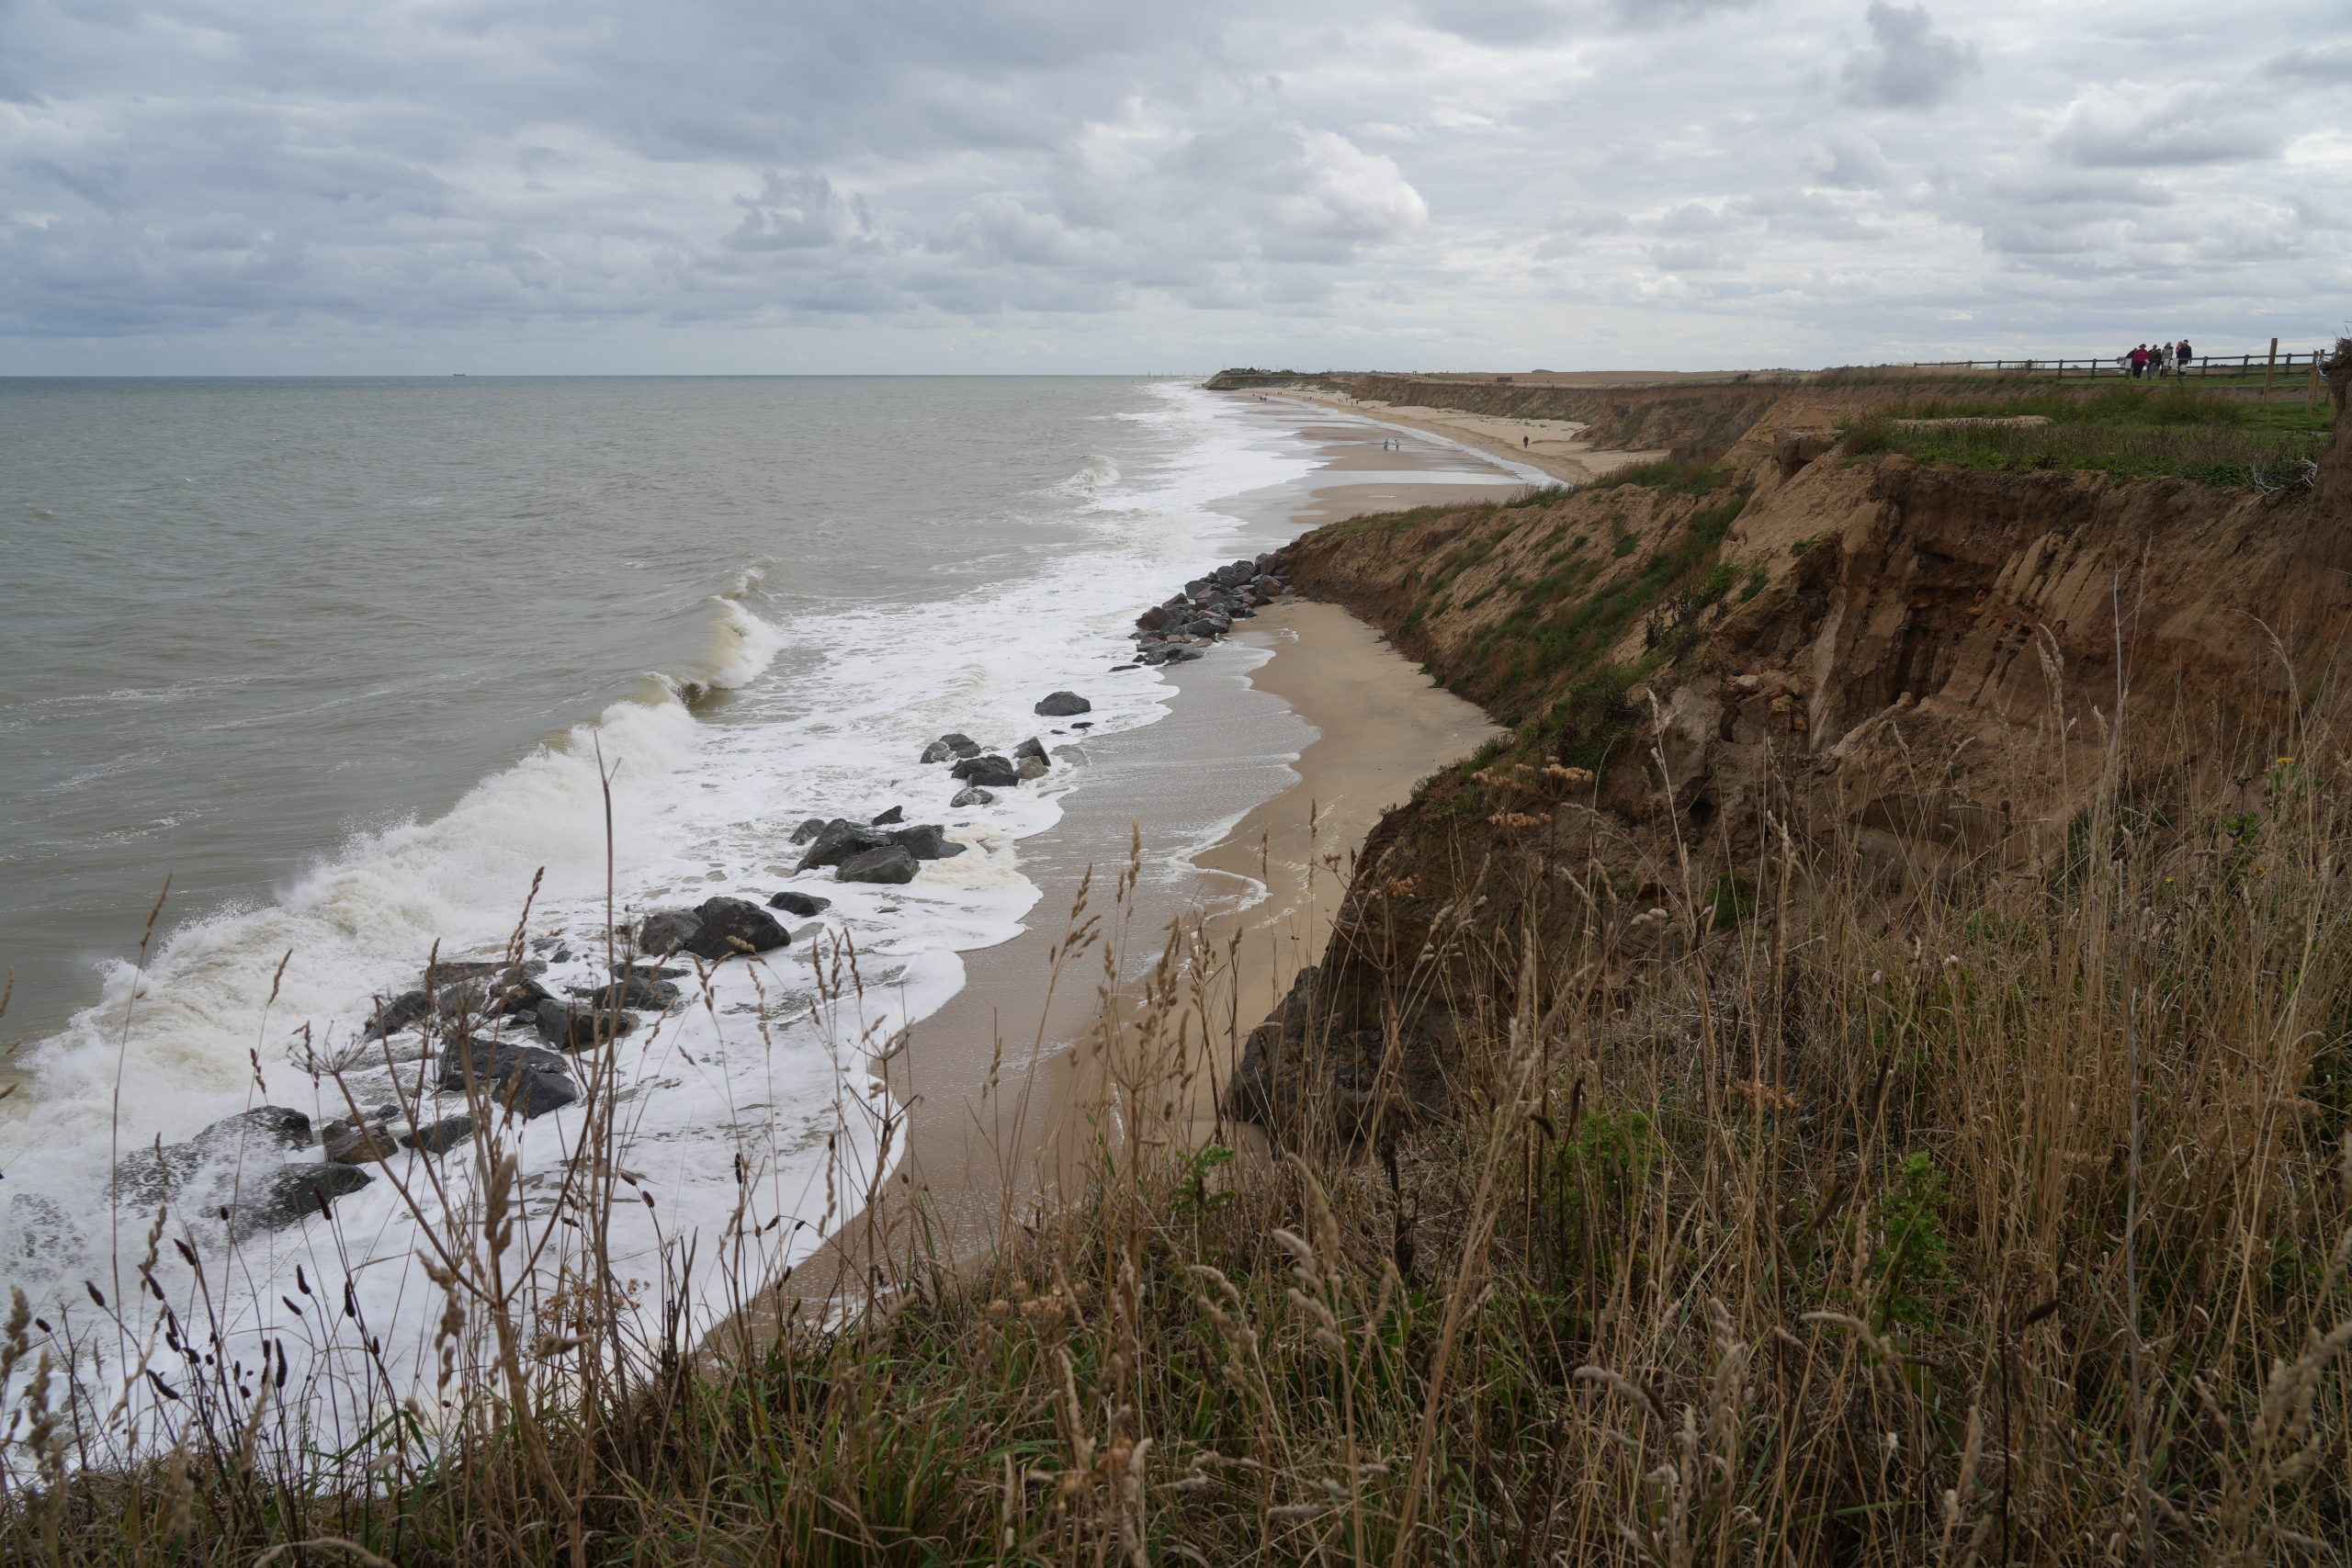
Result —
[{"label": "grey-green sea with white breaking surf, stretching to the horizon", "polygon": [[[318,1065],[428,952],[520,929],[541,983],[593,985],[607,910],[802,886],[833,907],[786,952],[612,1048],[623,1288],[677,1288],[680,1239],[790,1265],[891,1159],[868,1053],[1030,912],[1018,844],[1084,745],[1167,710],[1110,670],[1134,614],[1272,543],[1230,496],[1315,470],[1294,425],[1169,381],[0,381],[0,1284],[146,1312],[115,1161],[261,1103],[346,1112]],[[1033,715],[1056,689],[1087,729]],[[950,809],[917,762],[950,729],[1068,762]],[[793,875],[802,818],[887,806],[967,853]],[[579,1131],[513,1140],[541,1218]],[[416,1253],[477,1197],[442,1171],[235,1246],[174,1215],[212,1272],[162,1246],[160,1295],[207,1295],[223,1356],[341,1333],[421,1380]],[[296,1279],[348,1302],[325,1335]],[[139,1333],[108,1333],[122,1371]]]}]

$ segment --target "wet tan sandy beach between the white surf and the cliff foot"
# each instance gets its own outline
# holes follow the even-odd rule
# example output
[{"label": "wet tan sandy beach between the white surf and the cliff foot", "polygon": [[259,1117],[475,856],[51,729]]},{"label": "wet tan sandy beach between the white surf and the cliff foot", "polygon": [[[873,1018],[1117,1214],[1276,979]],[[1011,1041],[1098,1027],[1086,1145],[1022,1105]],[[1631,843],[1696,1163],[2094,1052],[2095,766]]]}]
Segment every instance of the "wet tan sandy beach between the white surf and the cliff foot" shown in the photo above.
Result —
[{"label": "wet tan sandy beach between the white surf and the cliff foot", "polygon": [[[1439,461],[1458,468],[1461,456],[1435,458],[1418,442],[1418,451],[1388,451],[1378,430],[1355,421],[1310,423],[1305,435],[1319,442],[1324,473],[1298,494],[1263,498],[1294,524],[1524,489],[1503,473],[1491,484],[1416,484],[1414,475]],[[1063,820],[1021,846],[1023,875],[1047,889],[1044,900],[1021,936],[967,952],[964,987],[877,1067],[903,1110],[898,1166],[887,1192],[795,1269],[793,1295],[856,1295],[861,1274],[887,1274],[915,1246],[985,1251],[1056,1187],[1084,1180],[1101,1140],[1117,1135],[1101,1124],[1115,1100],[1105,1070],[1171,931],[1190,952],[1218,954],[1188,971],[1174,1020],[1195,1051],[1207,1041],[1181,1119],[1197,1143],[1230,1138],[1216,1095],[1240,1039],[1322,952],[1364,837],[1416,783],[1494,733],[1484,712],[1329,604],[1265,607],[1167,677],[1178,696],[1145,731],[1047,736],[1089,778],[1065,797]],[[1200,766],[1171,773],[1171,757]],[[1254,804],[1181,853],[1183,823],[1216,811],[1225,792]],[[1124,877],[1131,846],[1145,867],[1134,884]],[[1073,950],[1070,931],[1089,922],[1098,922],[1094,940]]]}]

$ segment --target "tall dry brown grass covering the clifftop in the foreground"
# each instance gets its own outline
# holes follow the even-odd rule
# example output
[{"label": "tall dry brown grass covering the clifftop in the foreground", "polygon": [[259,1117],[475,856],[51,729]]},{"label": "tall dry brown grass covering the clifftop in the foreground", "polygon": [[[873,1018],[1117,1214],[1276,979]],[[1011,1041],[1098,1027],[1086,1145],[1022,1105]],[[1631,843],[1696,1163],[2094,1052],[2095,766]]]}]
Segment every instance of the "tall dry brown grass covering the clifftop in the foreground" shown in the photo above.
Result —
[{"label": "tall dry brown grass covering the clifftop in the foreground", "polygon": [[1122,1128],[1082,1197],[974,1260],[901,1225],[847,1312],[741,1279],[774,1312],[699,1347],[614,1309],[595,1105],[553,1291],[485,1140],[447,1427],[322,1455],[214,1373],[99,1462],[108,1392],[19,1302],[0,1561],[2336,1561],[2352,780],[2298,741],[2227,818],[2110,769],[2065,863],[1943,898],[1773,835],[1752,900],[1635,910],[1538,844],[1588,917],[1390,978],[1475,1027],[1371,1150],[1178,1135],[1216,954],[1176,940],[1082,1046]]}]

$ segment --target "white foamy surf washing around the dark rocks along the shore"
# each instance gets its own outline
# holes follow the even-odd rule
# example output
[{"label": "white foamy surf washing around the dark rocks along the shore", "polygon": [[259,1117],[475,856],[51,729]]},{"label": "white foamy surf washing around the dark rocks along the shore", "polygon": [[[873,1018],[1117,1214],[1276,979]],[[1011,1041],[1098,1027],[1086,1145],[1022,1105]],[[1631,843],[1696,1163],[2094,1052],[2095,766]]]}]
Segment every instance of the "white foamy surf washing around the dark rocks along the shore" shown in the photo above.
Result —
[{"label": "white foamy surf washing around the dark rocks along the shore", "polygon": [[[569,947],[541,980],[602,980],[607,792],[623,917],[783,886],[797,858],[788,835],[804,816],[863,820],[903,804],[908,820],[938,820],[967,844],[908,886],[800,877],[833,907],[802,922],[793,947],[720,966],[710,1006],[649,1018],[614,1048],[628,1166],[652,1201],[621,1206],[612,1253],[642,1281],[642,1305],[659,1312],[680,1291],[663,1281],[666,1239],[699,1239],[701,1276],[682,1286],[696,1326],[731,1305],[713,1284],[717,1262],[757,1279],[807,1255],[894,1159],[880,1138],[894,1107],[868,1081],[866,1053],[955,994],[960,952],[1021,929],[1040,889],[1021,875],[1018,842],[1049,827],[1061,795],[1087,778],[1084,766],[1056,769],[993,806],[948,809],[955,785],[915,762],[922,743],[960,729],[1009,750],[1054,726],[1033,715],[1054,689],[1094,701],[1091,731],[1056,745],[1082,750],[1162,717],[1169,686],[1155,672],[1105,675],[1129,654],[1136,607],[1249,543],[1211,501],[1312,468],[1301,444],[1244,430],[1190,388],[1160,388],[1136,423],[1152,437],[1138,475],[1089,458],[1054,487],[1080,548],[946,599],[837,599],[790,616],[760,607],[771,583],[807,604],[804,585],[781,564],[748,567],[710,602],[710,651],[666,672],[647,701],[614,703],[435,820],[353,837],[259,907],[174,931],[143,973],[108,973],[99,1006],[35,1053],[40,1114],[0,1131],[9,1192],[31,1194],[0,1213],[0,1253],[21,1260],[16,1276],[49,1300],[78,1293],[85,1276],[127,1276],[151,1215],[108,1213],[118,1143],[179,1140],[256,1103],[341,1114],[343,1091],[303,1074],[289,1044],[348,1041],[372,997],[416,985],[435,945],[445,957],[496,950],[534,875],[543,882],[529,931]],[[1082,494],[1070,489],[1080,480]],[[713,689],[731,696],[699,717],[689,701]],[[828,973],[849,940],[863,992],[840,994]],[[390,1081],[376,1072],[355,1079],[355,1093],[367,1107],[390,1098]],[[579,1135],[579,1107],[520,1128],[532,1204],[543,1208]],[[226,1291],[230,1352],[252,1366],[275,1338],[299,1361],[327,1354],[322,1333],[365,1333],[383,1345],[395,1382],[430,1382],[440,1293],[416,1255],[423,1232],[449,1218],[445,1206],[475,1201],[468,1159],[437,1168],[445,1185],[423,1215],[379,1178],[339,1201],[332,1227],[256,1237],[235,1255],[219,1227],[195,1222],[193,1241]],[[541,1265],[567,1241],[557,1237]],[[355,1316],[289,1333],[282,1300],[296,1267],[332,1291],[348,1279]],[[169,1251],[158,1281],[191,1300],[191,1274]],[[118,1305],[146,1305],[108,1291]],[[369,1415],[320,1401],[306,1418],[341,1436]]]}]

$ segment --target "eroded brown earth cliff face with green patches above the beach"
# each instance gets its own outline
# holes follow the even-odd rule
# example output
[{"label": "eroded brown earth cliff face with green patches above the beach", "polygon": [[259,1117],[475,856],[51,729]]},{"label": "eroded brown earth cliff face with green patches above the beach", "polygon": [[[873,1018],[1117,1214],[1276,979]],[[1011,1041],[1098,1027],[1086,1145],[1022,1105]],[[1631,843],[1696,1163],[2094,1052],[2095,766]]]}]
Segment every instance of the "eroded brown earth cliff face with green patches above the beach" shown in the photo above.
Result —
[{"label": "eroded brown earth cliff face with green patches above the beach", "polygon": [[1371,835],[1324,964],[1251,1037],[1237,1112],[1319,1105],[1364,1135],[1435,1105],[1451,1039],[1552,1004],[1517,994],[1531,936],[1691,952],[1708,910],[1743,917],[1764,853],[1837,851],[1889,900],[1966,896],[2082,853],[2107,769],[2157,823],[2192,790],[2251,806],[2277,757],[2352,719],[2343,435],[2314,484],[2263,496],[1849,461],[1790,440],[1816,416],[1766,411],[1738,461],[1649,484],[1294,545],[1291,581],[1515,738]]}]

